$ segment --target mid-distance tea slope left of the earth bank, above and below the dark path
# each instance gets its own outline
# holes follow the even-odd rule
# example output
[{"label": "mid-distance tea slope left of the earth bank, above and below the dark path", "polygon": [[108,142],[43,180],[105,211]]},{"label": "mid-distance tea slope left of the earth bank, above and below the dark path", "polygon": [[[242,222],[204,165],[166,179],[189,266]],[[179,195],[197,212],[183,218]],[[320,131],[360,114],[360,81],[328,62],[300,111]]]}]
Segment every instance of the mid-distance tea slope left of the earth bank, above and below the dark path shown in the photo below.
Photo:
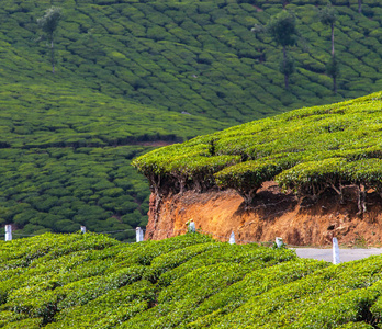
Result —
[{"label": "mid-distance tea slope left of the earth bank, above and below the dark path", "polygon": [[[116,231],[147,222],[149,189],[130,166],[150,141],[180,141],[222,127],[213,120],[134,104],[50,81],[3,86],[0,224],[20,235]],[[21,89],[22,88],[22,89]]]}]

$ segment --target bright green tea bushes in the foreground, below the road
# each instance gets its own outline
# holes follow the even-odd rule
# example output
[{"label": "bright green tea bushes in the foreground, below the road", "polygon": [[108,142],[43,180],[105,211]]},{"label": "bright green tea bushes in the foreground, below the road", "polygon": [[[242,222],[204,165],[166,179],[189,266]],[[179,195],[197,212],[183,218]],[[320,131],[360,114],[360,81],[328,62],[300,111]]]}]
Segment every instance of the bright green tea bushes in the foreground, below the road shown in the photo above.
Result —
[{"label": "bright green tea bushes in the foreground, below the road", "polygon": [[0,245],[2,328],[381,327],[381,257],[332,265],[199,234]]}]

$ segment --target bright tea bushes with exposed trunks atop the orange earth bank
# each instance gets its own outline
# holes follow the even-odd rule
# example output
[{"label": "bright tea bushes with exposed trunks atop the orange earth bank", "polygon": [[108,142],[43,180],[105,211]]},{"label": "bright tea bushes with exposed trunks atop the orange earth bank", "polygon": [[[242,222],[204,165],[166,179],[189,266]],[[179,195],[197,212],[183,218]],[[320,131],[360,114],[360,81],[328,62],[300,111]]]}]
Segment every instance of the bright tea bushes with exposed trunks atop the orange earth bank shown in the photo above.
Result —
[{"label": "bright tea bushes with exposed trunks atop the orange earth bank", "polygon": [[249,205],[265,181],[300,196],[359,188],[382,196],[382,93],[302,109],[154,150],[133,161],[162,195],[218,186],[235,189]]}]

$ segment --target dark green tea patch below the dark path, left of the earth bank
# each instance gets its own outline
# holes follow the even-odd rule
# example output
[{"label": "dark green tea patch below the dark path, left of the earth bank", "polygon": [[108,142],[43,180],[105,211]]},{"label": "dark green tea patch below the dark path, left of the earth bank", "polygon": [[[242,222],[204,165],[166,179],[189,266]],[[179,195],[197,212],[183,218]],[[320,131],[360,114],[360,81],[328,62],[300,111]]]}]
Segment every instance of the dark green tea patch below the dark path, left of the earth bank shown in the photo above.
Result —
[{"label": "dark green tea patch below the dark path, left of the earth bank", "polygon": [[130,166],[148,147],[3,149],[0,152],[0,224],[20,235],[117,231],[133,240],[145,226],[148,186]]}]

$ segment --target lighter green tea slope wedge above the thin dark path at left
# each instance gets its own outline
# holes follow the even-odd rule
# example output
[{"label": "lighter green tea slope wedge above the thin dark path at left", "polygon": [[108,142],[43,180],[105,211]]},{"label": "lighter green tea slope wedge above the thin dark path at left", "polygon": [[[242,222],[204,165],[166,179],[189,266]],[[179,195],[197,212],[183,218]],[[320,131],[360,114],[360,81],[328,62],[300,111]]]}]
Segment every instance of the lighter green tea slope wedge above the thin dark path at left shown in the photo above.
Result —
[{"label": "lighter green tea slope wedge above the thin dark path at left", "polygon": [[2,88],[0,147],[78,148],[181,141],[228,126],[115,100],[99,92],[74,90],[59,82],[53,86],[55,89],[50,90],[27,83]]}]

